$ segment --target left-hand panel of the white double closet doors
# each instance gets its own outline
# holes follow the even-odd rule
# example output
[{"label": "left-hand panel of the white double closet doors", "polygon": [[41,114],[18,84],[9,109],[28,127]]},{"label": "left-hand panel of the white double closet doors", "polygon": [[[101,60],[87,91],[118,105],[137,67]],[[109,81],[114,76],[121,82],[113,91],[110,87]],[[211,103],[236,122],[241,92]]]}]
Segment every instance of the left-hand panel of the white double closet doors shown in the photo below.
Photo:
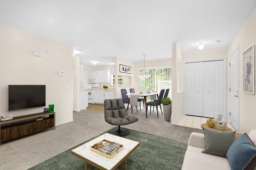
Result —
[{"label": "left-hand panel of the white double closet doors", "polygon": [[187,63],[185,113],[203,116],[203,63]]}]

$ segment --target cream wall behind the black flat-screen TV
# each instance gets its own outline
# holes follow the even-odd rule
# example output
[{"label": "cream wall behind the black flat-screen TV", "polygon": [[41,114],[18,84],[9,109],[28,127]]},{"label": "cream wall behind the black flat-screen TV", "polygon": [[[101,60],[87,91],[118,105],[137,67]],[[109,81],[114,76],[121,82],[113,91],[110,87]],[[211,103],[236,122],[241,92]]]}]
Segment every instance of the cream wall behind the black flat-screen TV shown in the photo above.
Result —
[{"label": "cream wall behind the black flat-screen TV", "polygon": [[56,124],[73,121],[73,46],[3,23],[0,37],[0,115],[43,112],[44,107],[7,112],[7,98],[8,84],[45,84],[46,107],[55,105]]}]

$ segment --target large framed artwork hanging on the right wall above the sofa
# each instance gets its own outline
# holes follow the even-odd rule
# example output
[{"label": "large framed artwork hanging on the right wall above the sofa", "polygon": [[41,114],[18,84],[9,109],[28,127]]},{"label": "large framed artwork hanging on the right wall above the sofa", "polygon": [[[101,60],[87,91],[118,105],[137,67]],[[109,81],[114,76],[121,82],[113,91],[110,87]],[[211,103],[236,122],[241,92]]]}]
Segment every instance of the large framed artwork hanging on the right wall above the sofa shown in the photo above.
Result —
[{"label": "large framed artwork hanging on the right wall above the sofa", "polygon": [[243,52],[243,92],[255,94],[254,45]]}]

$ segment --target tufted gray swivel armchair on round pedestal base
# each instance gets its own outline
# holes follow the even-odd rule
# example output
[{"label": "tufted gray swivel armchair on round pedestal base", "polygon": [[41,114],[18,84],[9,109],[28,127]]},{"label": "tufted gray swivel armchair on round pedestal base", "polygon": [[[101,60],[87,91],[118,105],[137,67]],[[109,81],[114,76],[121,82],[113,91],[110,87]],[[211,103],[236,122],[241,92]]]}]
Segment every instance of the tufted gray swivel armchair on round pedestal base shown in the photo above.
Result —
[{"label": "tufted gray swivel armchair on round pedestal base", "polygon": [[119,137],[130,134],[130,130],[126,128],[121,129],[121,125],[131,124],[139,120],[138,117],[127,114],[123,99],[106,99],[104,101],[104,113],[107,123],[118,126],[109,130],[108,133],[118,135]]}]

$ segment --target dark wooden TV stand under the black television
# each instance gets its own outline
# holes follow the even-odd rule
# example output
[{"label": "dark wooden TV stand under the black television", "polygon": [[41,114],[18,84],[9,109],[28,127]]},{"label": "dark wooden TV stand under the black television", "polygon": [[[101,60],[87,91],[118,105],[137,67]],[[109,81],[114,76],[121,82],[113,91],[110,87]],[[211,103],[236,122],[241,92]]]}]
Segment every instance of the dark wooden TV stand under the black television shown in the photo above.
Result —
[{"label": "dark wooden TV stand under the black television", "polygon": [[[47,116],[47,117],[45,117]],[[36,121],[36,118],[43,117],[43,120]],[[22,121],[22,122],[19,122]],[[9,124],[10,125],[6,125]],[[1,126],[5,125],[5,126]],[[23,137],[27,134],[43,131],[44,129],[55,129],[55,112],[35,113],[24,116],[13,117],[12,120],[0,121],[0,145],[1,142]]]}]

